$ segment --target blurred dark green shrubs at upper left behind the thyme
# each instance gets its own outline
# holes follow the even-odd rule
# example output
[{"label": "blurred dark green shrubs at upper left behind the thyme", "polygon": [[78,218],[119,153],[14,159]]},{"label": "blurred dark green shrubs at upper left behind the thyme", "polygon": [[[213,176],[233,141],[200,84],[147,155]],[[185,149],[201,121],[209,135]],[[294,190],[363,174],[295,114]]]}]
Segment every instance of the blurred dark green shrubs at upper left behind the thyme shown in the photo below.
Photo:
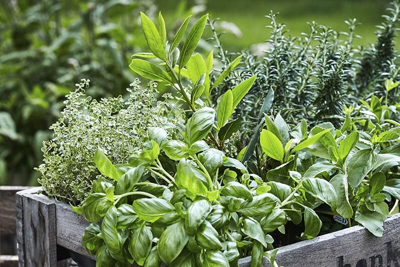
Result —
[{"label": "blurred dark green shrubs at upper left behind the thyme", "polygon": [[[35,184],[64,95],[81,78],[92,80],[86,93],[94,98],[124,94],[134,79],[130,56],[145,47],[139,11],[154,16],[157,8],[152,0],[0,3],[0,184]],[[192,11],[179,8],[175,17]]]}]

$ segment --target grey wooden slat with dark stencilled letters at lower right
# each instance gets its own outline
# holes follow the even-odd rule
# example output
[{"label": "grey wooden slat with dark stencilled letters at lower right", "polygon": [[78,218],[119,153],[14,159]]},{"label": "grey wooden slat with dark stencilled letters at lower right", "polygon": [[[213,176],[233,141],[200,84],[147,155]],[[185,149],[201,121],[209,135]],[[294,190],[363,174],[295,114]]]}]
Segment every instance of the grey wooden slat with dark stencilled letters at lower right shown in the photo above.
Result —
[{"label": "grey wooden slat with dark stencilled letters at lower right", "polygon": [[[276,261],[285,267],[399,267],[400,213],[386,219],[383,228],[382,237],[353,226],[286,245],[279,248]],[[239,266],[250,266],[250,258],[240,259]]]}]

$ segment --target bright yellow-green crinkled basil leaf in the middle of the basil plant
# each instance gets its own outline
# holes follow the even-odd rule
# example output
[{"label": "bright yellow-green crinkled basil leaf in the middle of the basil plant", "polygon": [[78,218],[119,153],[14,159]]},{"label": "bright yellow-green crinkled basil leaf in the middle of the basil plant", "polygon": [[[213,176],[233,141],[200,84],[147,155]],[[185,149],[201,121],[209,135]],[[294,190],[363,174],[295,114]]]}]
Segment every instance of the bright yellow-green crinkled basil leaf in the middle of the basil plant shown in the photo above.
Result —
[{"label": "bright yellow-green crinkled basil leaf in the middle of the basil plant", "polygon": [[203,183],[204,176],[195,167],[181,159],[176,166],[175,183],[179,189],[186,189],[185,194],[194,199],[197,195],[207,195],[207,187]]}]

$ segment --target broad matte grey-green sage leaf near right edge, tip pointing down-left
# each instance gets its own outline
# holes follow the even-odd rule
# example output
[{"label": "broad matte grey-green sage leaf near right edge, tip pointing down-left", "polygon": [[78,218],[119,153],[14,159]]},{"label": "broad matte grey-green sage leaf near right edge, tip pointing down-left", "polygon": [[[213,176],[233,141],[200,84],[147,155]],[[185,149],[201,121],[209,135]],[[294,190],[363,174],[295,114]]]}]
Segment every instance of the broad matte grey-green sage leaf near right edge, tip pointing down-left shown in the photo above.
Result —
[{"label": "broad matte grey-green sage leaf near right edge, tip pointing down-left", "polygon": [[372,150],[358,150],[348,158],[347,179],[352,187],[358,186],[372,166]]}]

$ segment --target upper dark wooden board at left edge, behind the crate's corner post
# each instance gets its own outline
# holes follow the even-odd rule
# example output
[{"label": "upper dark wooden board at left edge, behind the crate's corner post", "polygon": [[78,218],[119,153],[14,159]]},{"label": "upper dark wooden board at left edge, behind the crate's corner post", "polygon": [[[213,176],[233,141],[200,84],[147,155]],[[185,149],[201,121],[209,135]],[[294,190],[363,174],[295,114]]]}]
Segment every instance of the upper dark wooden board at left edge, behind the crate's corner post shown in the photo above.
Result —
[{"label": "upper dark wooden board at left edge, behind the crate's corner post", "polygon": [[0,186],[0,232],[15,234],[15,193],[28,186]]}]

